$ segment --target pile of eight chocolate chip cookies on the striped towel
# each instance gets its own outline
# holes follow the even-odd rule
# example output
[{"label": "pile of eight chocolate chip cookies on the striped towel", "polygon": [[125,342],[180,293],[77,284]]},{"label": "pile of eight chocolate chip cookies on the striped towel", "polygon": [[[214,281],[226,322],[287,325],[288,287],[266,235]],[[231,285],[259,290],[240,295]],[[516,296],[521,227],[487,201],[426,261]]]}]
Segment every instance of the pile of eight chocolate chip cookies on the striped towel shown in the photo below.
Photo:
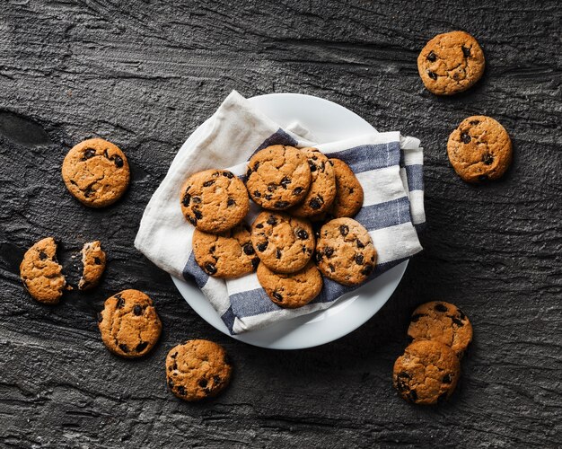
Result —
[{"label": "pile of eight chocolate chip cookies on the striped towel", "polygon": [[[250,198],[262,210],[248,225]],[[199,267],[221,278],[257,271],[281,307],[310,303],[321,275],[356,286],[376,264],[371,236],[352,218],[363,206],[361,184],[347,163],[316,148],[268,146],[250,158],[243,180],[225,170],[195,173],[180,202],[196,227]]]}]

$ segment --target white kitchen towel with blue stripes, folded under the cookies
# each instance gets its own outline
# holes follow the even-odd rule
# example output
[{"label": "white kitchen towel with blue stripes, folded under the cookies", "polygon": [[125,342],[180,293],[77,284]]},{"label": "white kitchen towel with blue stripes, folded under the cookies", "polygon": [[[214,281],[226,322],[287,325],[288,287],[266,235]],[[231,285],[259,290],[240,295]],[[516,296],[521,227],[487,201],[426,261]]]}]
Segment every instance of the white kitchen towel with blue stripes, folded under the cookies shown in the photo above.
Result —
[{"label": "white kitchen towel with blue stripes, folded under the cookies", "polygon": [[[298,124],[292,129],[300,135],[305,132]],[[417,231],[426,221],[423,149],[416,138],[400,136],[400,132],[373,132],[317,145],[291,129],[279,128],[238,92],[232,92],[180,148],[145,209],[135,245],[172,276],[194,279],[233,334],[326,309],[356,288],[324,278],[321,294],[312,303],[283,309],[268,299],[255,273],[224,281],[208,277],[195,262],[191,251],[194,227],[180,210],[183,181],[194,172],[224,167],[242,178],[250,156],[276,144],[316,146],[356,173],[364,189],[364,206],[355,219],[369,231],[378,252],[371,278],[422,250]],[[249,224],[259,213],[259,207],[250,204]]]}]

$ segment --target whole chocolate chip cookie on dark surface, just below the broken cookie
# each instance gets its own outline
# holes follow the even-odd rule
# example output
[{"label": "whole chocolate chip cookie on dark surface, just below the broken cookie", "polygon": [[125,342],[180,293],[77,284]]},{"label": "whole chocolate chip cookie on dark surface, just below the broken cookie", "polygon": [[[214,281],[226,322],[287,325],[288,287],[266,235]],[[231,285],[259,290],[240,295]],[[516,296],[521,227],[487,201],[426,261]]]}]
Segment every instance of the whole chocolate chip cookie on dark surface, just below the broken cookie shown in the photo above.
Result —
[{"label": "whole chocolate chip cookie on dark surface, just below the broken cookie", "polygon": [[149,296],[138,290],[123,290],[110,296],[98,313],[101,339],[120,357],[143,357],[160,338],[162,322]]}]

